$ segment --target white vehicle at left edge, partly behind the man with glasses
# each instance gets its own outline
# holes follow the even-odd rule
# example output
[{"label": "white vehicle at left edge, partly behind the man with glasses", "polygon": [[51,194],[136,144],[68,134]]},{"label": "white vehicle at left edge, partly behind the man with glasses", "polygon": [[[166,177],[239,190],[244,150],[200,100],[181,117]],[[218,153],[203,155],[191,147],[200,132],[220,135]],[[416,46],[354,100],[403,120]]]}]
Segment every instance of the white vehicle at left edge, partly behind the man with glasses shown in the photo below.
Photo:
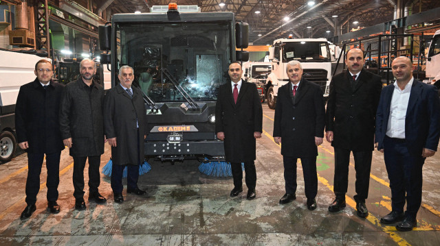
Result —
[{"label": "white vehicle at left edge, partly behind the man with glasses", "polygon": [[0,50],[0,162],[8,162],[17,150],[15,103],[20,86],[34,81],[35,64],[41,59],[47,58]]}]

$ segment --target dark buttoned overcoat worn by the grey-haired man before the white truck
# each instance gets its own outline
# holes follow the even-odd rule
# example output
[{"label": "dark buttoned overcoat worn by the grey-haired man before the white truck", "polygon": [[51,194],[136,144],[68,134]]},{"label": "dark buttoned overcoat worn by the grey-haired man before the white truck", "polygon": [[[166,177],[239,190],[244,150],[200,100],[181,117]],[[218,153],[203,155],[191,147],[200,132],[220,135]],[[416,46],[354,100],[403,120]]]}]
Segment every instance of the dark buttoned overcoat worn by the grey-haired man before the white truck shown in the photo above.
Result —
[{"label": "dark buttoned overcoat worn by the grey-haired man before the white truck", "polygon": [[281,154],[294,158],[318,156],[315,136],[324,137],[325,107],[320,86],[301,79],[295,97],[292,83],[278,90],[274,137],[281,136]]}]

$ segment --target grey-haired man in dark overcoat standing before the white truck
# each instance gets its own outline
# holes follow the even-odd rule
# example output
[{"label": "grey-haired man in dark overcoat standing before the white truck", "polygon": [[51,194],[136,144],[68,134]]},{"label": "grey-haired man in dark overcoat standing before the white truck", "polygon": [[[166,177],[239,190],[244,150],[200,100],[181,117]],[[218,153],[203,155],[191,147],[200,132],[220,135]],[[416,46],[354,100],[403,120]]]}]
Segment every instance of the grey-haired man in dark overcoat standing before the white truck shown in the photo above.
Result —
[{"label": "grey-haired man in dark overcoat standing before the white truck", "polygon": [[303,67],[290,61],[286,67],[289,82],[278,90],[274,120],[274,140],[283,140],[284,180],[286,193],[280,204],[296,199],[296,160],[301,158],[307,208],[316,209],[318,174],[316,156],[324,138],[325,107],[318,84],[303,78]]}]

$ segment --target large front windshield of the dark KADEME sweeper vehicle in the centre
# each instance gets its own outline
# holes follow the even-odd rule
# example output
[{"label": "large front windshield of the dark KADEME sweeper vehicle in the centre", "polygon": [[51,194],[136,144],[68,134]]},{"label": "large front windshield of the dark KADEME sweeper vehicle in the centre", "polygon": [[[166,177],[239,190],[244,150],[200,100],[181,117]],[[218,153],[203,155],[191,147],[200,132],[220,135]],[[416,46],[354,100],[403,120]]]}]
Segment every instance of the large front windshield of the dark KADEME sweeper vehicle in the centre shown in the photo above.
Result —
[{"label": "large front windshield of the dark KADEME sweeper vehicle in the centre", "polygon": [[230,61],[228,23],[120,23],[118,67],[133,67],[133,84],[155,102],[186,101],[169,71],[195,101],[216,101]]}]

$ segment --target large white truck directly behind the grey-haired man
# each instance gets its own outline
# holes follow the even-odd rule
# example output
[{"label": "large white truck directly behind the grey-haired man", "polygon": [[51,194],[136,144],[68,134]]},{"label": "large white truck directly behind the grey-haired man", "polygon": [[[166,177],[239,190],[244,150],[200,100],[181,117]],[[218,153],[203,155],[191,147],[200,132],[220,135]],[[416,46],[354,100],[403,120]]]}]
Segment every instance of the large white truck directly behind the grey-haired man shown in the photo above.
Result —
[{"label": "large white truck directly behind the grey-haired man", "polygon": [[303,77],[318,84],[325,99],[329,96],[331,81],[331,53],[325,38],[280,38],[269,48],[272,73],[267,77],[265,91],[267,105],[274,109],[278,88],[287,84],[287,62],[297,60],[303,66]]}]

